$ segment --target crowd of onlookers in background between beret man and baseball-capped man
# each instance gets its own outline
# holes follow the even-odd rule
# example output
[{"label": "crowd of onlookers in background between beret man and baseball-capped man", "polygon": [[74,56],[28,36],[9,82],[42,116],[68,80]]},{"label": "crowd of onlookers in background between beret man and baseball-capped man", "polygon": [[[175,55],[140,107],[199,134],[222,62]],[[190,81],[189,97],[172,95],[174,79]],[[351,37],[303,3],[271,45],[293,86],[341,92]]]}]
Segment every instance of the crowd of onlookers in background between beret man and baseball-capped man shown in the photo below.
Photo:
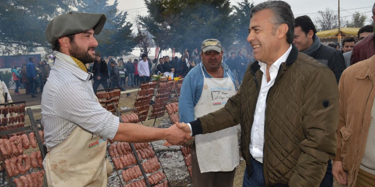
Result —
[{"label": "crowd of onlookers in background between beret man and baseball-capped man", "polygon": [[139,87],[139,83],[150,80],[151,75],[184,77],[200,60],[198,55],[189,57],[187,49],[180,59],[177,56],[171,59],[163,56],[158,61],[156,58],[150,60],[146,54],[142,54],[139,60],[129,58],[126,63],[123,58],[102,58],[98,51],[95,51],[95,56],[94,62],[86,64],[88,71],[93,74],[95,93],[100,85],[104,89],[120,87],[122,90]]}]

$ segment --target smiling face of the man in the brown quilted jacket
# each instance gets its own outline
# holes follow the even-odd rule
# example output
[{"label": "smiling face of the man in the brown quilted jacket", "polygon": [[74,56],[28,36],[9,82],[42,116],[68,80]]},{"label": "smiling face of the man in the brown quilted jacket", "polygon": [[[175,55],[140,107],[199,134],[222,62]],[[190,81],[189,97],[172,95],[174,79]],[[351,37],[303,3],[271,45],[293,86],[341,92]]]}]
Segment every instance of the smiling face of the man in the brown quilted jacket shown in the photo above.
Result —
[{"label": "smiling face of the man in the brown quilted jacket", "polygon": [[[247,36],[247,41],[250,42],[253,49],[254,58],[267,64],[272,64],[283,54],[280,55],[276,51],[280,48],[279,40],[286,37],[285,33],[279,33],[279,29],[274,28],[272,19],[273,13],[270,9],[257,11],[250,20]],[[286,39],[284,42],[286,43]]]}]

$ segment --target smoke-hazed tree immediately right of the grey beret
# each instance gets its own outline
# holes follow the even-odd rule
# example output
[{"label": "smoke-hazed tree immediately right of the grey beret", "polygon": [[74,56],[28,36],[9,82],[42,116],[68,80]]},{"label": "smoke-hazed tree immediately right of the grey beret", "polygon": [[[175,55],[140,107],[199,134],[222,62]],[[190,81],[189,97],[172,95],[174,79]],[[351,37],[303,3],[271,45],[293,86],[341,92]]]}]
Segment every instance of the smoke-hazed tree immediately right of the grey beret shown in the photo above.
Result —
[{"label": "smoke-hazed tree immediately right of the grey beret", "polygon": [[117,0],[113,4],[107,4],[107,0],[82,0],[77,6],[78,11],[104,13],[107,17],[104,28],[95,36],[99,43],[95,50],[103,56],[127,55],[135,46],[132,24],[125,21],[126,12],[118,11],[117,4]]}]

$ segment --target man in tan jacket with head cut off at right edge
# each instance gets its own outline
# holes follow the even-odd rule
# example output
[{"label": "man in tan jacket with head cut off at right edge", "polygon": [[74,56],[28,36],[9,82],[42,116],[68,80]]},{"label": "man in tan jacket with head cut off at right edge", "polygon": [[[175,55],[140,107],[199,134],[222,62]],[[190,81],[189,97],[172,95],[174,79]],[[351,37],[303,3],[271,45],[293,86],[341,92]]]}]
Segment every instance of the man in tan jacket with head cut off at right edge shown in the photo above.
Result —
[{"label": "man in tan jacket with head cut off at right edge", "polygon": [[347,187],[375,185],[375,55],[341,75],[340,121],[332,174]]}]

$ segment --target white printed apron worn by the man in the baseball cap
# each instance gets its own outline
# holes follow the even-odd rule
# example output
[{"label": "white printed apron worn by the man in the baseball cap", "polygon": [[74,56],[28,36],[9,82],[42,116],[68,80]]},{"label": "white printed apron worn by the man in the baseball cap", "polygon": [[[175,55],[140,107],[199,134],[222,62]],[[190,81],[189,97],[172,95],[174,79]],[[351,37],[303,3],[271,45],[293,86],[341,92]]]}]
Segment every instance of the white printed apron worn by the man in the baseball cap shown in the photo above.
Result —
[{"label": "white printed apron worn by the man in the baseball cap", "polygon": [[[194,107],[194,119],[224,107],[228,98],[235,94],[232,80],[206,78],[203,73],[203,90]],[[195,136],[196,157],[200,173],[229,172],[239,162],[237,127],[230,127],[214,133]]]}]

